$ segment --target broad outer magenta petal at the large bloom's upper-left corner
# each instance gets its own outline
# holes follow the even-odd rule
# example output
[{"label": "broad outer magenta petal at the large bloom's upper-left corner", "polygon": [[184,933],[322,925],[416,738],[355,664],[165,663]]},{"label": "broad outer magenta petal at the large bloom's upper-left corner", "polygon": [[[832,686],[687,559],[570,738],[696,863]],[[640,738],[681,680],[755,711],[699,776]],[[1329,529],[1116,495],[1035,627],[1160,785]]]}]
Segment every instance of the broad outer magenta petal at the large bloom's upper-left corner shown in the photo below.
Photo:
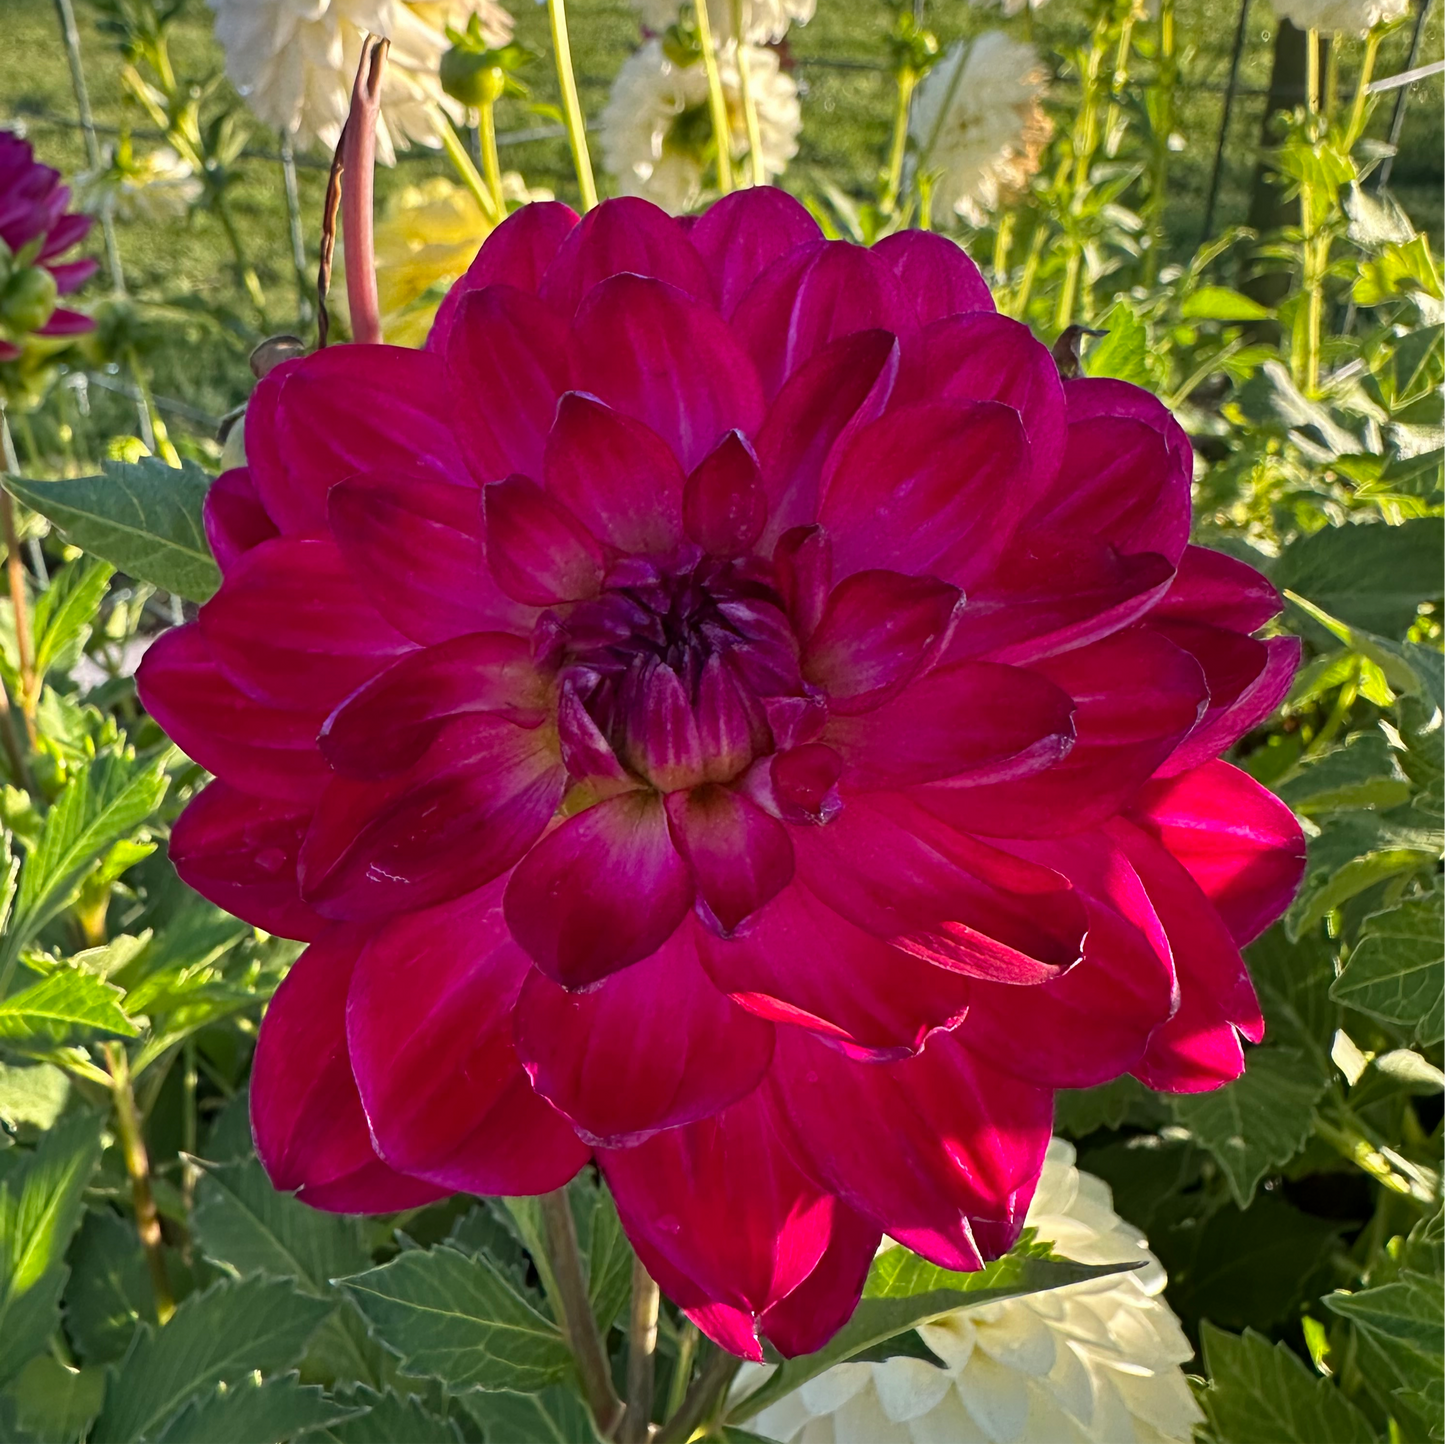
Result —
[{"label": "broad outer magenta petal at the large bloom's upper-left corner", "polygon": [[246,412],[251,480],[282,532],[319,532],[327,491],[358,471],[461,480],[447,371],[426,351],[328,345],[256,384]]}]

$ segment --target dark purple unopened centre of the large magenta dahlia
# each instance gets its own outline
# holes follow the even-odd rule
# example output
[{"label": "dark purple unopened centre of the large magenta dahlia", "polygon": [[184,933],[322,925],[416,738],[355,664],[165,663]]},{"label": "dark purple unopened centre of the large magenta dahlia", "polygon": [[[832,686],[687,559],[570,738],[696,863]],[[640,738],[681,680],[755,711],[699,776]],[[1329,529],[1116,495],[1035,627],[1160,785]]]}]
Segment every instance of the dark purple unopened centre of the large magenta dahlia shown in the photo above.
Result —
[{"label": "dark purple unopened centre of the large magenta dahlia", "polygon": [[727,782],[773,749],[779,700],[806,705],[798,643],[757,562],[627,558],[597,597],[539,629],[579,779],[629,775],[663,792]]}]

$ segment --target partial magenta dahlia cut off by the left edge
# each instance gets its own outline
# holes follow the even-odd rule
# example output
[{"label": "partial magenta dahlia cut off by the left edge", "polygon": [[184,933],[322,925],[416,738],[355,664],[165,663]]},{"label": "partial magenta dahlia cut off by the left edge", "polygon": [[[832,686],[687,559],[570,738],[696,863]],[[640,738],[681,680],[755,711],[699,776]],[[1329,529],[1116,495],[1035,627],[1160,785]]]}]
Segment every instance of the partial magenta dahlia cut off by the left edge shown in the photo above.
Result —
[{"label": "partial magenta dahlia cut off by the left edge", "polygon": [[91,227],[88,215],[66,212],[69,199],[61,172],[40,165],[29,140],[0,130],[0,361],[13,361],[26,335],[78,335],[95,324],[55,305],[95,275],[94,260],[56,259]]}]

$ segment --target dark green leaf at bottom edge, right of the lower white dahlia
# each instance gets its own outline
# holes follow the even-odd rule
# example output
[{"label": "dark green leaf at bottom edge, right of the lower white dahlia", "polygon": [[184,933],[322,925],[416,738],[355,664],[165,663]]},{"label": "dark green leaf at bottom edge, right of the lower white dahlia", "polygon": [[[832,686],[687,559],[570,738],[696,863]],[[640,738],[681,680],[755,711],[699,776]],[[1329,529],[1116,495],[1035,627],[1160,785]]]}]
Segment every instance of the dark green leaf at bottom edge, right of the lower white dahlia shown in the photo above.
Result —
[{"label": "dark green leaf at bottom edge, right of the lower white dahlia", "polygon": [[1212,1324],[1201,1338],[1209,1370],[1201,1404],[1220,1444],[1377,1444],[1364,1415],[1287,1344]]}]

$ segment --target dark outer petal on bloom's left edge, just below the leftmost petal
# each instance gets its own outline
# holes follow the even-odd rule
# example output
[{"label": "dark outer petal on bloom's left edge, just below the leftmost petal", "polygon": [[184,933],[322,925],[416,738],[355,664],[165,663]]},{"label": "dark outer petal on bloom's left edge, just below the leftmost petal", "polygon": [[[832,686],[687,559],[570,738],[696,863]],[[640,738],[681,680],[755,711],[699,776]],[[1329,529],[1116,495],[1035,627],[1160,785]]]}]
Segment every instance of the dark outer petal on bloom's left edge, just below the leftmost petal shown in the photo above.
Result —
[{"label": "dark outer petal on bloom's left edge, just below the leftmost petal", "polygon": [[301,901],[296,882],[309,821],[309,808],[217,781],[176,818],[171,861],[182,882],[218,908],[254,928],[309,941],[327,925]]}]

